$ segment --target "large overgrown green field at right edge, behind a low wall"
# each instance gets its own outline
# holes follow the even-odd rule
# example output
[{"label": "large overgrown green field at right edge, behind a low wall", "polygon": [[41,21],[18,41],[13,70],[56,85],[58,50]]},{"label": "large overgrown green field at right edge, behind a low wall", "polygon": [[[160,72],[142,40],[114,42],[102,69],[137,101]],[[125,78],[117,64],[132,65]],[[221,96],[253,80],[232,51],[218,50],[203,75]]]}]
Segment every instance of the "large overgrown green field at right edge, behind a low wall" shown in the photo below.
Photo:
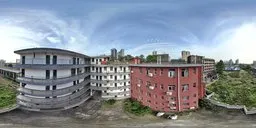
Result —
[{"label": "large overgrown green field at right edge, behind a low wall", "polygon": [[223,72],[210,86],[214,99],[232,105],[256,107],[256,79],[246,71]]}]

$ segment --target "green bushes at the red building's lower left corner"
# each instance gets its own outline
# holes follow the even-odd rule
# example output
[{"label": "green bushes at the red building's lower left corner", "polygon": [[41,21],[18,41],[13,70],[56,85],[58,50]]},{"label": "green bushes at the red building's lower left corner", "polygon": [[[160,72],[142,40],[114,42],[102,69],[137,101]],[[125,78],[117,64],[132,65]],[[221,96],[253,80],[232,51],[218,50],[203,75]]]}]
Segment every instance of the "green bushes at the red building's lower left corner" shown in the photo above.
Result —
[{"label": "green bushes at the red building's lower left corner", "polygon": [[132,99],[125,100],[124,110],[136,116],[144,116],[146,114],[152,114],[152,110],[149,107],[143,106],[140,104],[140,102]]}]

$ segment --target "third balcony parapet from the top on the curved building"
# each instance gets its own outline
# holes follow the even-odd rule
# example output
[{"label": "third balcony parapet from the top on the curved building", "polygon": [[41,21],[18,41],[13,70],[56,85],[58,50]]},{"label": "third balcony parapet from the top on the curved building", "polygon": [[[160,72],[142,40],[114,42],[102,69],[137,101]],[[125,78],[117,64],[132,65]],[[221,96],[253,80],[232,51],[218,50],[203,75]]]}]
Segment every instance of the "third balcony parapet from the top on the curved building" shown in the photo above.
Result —
[{"label": "third balcony parapet from the top on the curved building", "polygon": [[[28,88],[18,88],[18,92],[31,95],[31,96],[59,96],[64,95],[70,92],[73,92],[79,88],[86,87],[87,84],[89,84],[90,81],[86,80],[83,81],[75,86],[70,86],[67,88],[57,89],[57,90],[34,90],[34,89],[28,89]],[[90,86],[90,85],[88,85]]]}]

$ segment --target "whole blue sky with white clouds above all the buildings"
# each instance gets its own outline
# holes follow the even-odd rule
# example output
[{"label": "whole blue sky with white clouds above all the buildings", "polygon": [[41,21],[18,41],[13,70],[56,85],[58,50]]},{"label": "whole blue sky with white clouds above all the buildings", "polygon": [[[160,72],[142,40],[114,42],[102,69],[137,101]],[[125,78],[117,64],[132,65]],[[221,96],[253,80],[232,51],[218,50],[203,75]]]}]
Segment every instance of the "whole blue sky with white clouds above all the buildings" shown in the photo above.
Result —
[{"label": "whole blue sky with white clouds above all the buildings", "polygon": [[255,12],[256,0],[0,0],[0,58],[33,47],[89,56],[123,48],[252,63]]}]

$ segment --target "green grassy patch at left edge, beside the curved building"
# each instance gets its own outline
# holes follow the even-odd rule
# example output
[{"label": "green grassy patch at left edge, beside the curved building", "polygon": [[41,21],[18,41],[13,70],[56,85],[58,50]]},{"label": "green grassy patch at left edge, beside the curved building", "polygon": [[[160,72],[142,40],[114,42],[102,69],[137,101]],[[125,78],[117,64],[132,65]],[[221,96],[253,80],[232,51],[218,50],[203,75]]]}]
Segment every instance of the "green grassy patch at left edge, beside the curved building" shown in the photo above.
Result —
[{"label": "green grassy patch at left edge, beside the curved building", "polygon": [[16,103],[16,89],[10,80],[0,77],[0,108],[12,106]]}]

